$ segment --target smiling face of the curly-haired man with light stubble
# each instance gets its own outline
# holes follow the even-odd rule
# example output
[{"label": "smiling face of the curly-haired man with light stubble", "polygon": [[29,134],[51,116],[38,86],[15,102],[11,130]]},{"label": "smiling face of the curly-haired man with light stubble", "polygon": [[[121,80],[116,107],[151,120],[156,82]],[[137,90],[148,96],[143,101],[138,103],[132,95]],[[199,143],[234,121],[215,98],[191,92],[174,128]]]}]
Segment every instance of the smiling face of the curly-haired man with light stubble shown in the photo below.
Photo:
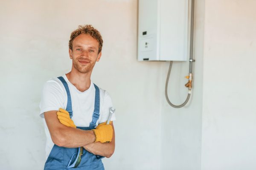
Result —
[{"label": "smiling face of the curly-haired man with light stubble", "polygon": [[80,73],[92,71],[95,62],[101,57],[101,52],[98,54],[99,42],[89,34],[80,34],[73,40],[72,48],[69,54],[74,68]]}]

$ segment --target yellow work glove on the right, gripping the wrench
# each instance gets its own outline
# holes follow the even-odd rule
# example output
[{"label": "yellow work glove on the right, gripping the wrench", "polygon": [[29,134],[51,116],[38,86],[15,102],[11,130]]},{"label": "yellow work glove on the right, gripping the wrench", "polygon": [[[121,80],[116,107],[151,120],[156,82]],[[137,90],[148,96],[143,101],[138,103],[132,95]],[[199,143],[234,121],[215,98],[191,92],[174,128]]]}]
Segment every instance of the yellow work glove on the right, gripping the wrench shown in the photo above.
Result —
[{"label": "yellow work glove on the right, gripping the wrench", "polygon": [[[110,124],[112,121],[110,122]],[[113,128],[111,125],[106,125],[106,122],[99,124],[96,129],[93,129],[95,134],[95,142],[111,142],[113,137]]]}]

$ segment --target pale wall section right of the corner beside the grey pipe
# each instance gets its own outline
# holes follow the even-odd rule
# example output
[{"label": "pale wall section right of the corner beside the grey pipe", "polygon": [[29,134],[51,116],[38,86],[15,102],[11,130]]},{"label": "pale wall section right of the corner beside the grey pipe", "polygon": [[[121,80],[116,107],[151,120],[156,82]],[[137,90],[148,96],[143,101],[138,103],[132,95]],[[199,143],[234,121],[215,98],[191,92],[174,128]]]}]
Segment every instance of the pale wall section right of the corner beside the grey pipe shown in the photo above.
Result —
[{"label": "pale wall section right of the corner beside the grey pipe", "polygon": [[202,170],[256,169],[255,8],[205,0]]}]

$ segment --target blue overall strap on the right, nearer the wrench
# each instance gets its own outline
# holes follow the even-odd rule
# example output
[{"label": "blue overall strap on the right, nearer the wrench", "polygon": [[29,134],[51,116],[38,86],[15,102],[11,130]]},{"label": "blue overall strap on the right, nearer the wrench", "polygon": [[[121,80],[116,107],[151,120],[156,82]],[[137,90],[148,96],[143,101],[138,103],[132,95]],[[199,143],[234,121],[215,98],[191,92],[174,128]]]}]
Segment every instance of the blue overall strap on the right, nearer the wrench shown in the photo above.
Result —
[{"label": "blue overall strap on the right, nearer the wrench", "polygon": [[99,119],[99,88],[94,84],[95,87],[95,101],[94,101],[94,111],[93,111],[93,120],[90,122],[90,128],[96,127],[96,122]]}]

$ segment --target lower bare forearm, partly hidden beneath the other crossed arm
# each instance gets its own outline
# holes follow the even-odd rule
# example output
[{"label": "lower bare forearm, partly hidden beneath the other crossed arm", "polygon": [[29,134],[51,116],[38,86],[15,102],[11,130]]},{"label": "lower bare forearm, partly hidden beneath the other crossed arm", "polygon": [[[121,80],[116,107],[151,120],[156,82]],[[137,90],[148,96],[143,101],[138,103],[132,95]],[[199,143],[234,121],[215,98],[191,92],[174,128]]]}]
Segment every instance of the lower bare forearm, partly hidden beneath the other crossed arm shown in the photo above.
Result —
[{"label": "lower bare forearm, partly hidden beneath the other crossed arm", "polygon": [[93,153],[94,155],[105,156],[107,158],[111,157],[115,150],[114,142],[101,143],[94,142],[84,146],[84,149]]}]

